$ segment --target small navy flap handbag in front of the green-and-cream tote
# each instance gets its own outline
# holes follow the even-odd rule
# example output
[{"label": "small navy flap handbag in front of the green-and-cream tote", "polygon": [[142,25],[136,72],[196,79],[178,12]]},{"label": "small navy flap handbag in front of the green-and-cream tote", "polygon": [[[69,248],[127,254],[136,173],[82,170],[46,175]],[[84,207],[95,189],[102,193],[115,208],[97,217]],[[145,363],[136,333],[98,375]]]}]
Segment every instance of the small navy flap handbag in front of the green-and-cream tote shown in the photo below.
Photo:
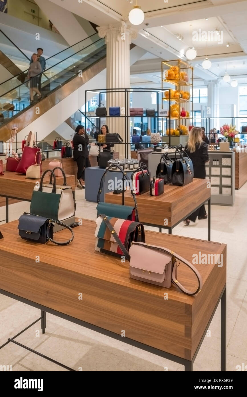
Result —
[{"label": "small navy flap handbag in front of the green-and-cream tote", "polygon": [[[53,240],[53,227],[56,224],[69,229],[72,237],[68,241],[59,242]],[[19,236],[21,236],[23,240],[32,241],[33,243],[45,244],[47,241],[51,241],[57,245],[67,245],[74,239],[74,233],[71,227],[61,222],[44,218],[43,216],[30,214],[29,212],[24,212],[24,214],[20,216],[17,228],[19,229]]]}]

